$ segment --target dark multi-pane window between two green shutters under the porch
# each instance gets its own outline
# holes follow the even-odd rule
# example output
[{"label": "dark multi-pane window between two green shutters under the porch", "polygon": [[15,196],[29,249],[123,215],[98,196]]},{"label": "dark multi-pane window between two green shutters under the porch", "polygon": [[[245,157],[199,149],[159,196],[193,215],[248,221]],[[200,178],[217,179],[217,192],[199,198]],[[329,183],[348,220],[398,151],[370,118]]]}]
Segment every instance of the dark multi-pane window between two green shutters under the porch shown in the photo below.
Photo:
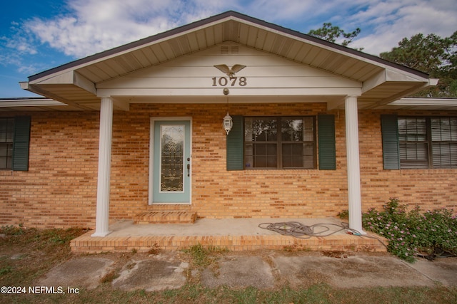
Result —
[{"label": "dark multi-pane window between two green shutters under the porch", "polygon": [[315,169],[314,117],[245,117],[246,169]]}]

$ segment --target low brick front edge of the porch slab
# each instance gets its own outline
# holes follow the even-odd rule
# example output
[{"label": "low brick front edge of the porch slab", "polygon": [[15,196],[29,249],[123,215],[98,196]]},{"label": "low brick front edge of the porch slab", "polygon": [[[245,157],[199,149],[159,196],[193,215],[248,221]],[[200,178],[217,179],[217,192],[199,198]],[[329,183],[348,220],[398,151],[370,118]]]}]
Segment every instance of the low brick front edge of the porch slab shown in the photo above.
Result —
[{"label": "low brick front edge of the porch slab", "polygon": [[[338,235],[295,239],[291,236],[105,236],[92,237],[93,231],[71,241],[75,253],[100,253],[104,251],[148,252],[160,248],[167,251],[186,249],[191,246],[217,246],[230,251],[258,249],[309,250],[309,251],[364,251],[386,252],[377,239],[360,236]],[[383,242],[387,244],[385,239]]]}]

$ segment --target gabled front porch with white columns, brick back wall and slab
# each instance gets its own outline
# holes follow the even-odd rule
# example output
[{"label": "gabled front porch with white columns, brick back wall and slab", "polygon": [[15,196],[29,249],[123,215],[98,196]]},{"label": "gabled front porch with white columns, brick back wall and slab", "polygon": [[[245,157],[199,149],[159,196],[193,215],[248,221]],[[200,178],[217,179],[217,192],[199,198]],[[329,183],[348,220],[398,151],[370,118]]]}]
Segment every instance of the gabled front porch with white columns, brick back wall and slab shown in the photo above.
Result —
[{"label": "gabled front porch with white columns, brick back wall and slab", "polygon": [[[223,65],[231,69],[221,73],[218,66]],[[235,71],[235,66],[243,68]],[[378,240],[349,235],[344,229],[331,236],[296,239],[260,229],[260,220],[247,217],[253,213],[264,217],[261,222],[271,222],[273,216],[284,217],[278,212],[291,209],[287,204],[298,210],[291,212],[293,216],[327,216],[348,209],[351,229],[366,234],[361,225],[358,111],[382,109],[434,83],[416,70],[230,11],[44,71],[21,85],[64,103],[67,111],[100,111],[95,231],[72,241],[73,251],[148,251],[153,246],[176,250],[197,243],[230,250],[297,246],[382,251]],[[232,171],[225,164],[231,152],[221,127],[226,112],[239,117],[310,116],[312,125],[319,115],[317,123],[323,115],[331,115],[336,122],[331,120],[327,137],[336,148],[322,149],[320,140],[325,136],[313,127],[311,168],[281,170],[279,165],[279,169],[256,170],[241,164],[241,169]],[[148,201],[145,193],[158,193],[153,186],[158,180],[153,147],[159,147],[154,142],[159,137],[149,129],[165,118],[189,122],[187,150],[193,154],[183,158],[191,186],[185,202],[206,218],[194,224],[116,223],[164,202]],[[242,128],[240,134],[242,139]],[[330,167],[321,166],[318,159],[326,154],[333,161]],[[124,193],[132,188],[135,191],[126,198]],[[288,197],[291,193],[294,201]],[[247,206],[253,197],[261,202]],[[237,199],[239,206],[230,199]],[[337,206],[342,201],[343,208]],[[226,211],[222,216],[216,212],[221,209]],[[239,210],[246,219],[231,219]],[[249,229],[227,230],[246,227],[248,221],[255,221]],[[321,220],[296,221],[309,225]]]}]

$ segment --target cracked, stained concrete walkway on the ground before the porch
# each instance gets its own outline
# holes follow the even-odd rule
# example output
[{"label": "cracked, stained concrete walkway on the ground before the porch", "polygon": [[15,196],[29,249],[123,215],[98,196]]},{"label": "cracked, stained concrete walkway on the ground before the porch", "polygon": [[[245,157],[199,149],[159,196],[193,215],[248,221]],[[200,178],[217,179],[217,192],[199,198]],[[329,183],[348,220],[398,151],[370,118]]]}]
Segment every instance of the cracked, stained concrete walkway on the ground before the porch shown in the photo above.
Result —
[{"label": "cracked, stained concrete walkway on the ground before the porch", "polygon": [[201,268],[192,266],[190,256],[181,251],[106,253],[76,255],[37,284],[94,289],[107,276],[116,278],[111,281],[114,289],[146,291],[181,288],[188,280],[209,288],[307,288],[318,283],[333,288],[457,286],[457,258],[419,259],[411,264],[388,253],[229,252]]}]

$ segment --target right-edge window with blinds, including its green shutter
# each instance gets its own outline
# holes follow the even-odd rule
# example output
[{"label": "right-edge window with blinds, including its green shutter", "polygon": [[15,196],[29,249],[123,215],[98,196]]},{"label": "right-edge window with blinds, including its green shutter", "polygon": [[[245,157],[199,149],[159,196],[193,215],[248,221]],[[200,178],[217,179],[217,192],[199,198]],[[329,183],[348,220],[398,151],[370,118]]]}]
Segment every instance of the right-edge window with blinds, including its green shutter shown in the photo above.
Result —
[{"label": "right-edge window with blinds, including its green shutter", "polygon": [[457,168],[457,117],[381,117],[384,169]]}]

